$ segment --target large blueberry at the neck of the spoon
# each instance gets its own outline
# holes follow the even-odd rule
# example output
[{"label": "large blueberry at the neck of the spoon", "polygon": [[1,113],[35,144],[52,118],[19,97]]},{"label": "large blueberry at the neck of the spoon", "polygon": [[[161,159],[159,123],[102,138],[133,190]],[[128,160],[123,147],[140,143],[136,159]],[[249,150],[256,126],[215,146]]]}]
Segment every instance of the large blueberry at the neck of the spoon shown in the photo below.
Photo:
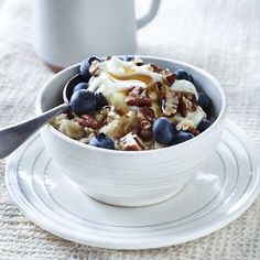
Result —
[{"label": "large blueberry at the neck of the spoon", "polygon": [[84,115],[97,110],[96,96],[86,89],[73,94],[71,99],[72,110],[77,115]]}]

